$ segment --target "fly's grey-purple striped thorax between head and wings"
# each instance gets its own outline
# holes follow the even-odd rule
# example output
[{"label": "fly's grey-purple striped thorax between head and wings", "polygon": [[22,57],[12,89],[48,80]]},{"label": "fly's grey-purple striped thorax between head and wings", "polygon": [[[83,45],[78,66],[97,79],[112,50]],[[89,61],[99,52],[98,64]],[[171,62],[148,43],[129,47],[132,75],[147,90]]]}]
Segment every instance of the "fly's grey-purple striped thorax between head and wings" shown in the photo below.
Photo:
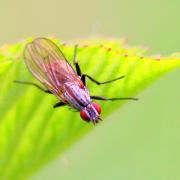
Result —
[{"label": "fly's grey-purple striped thorax between head and wings", "polygon": [[89,91],[85,86],[81,87],[76,83],[68,82],[64,84],[64,90],[64,97],[75,109],[81,110],[91,103]]}]

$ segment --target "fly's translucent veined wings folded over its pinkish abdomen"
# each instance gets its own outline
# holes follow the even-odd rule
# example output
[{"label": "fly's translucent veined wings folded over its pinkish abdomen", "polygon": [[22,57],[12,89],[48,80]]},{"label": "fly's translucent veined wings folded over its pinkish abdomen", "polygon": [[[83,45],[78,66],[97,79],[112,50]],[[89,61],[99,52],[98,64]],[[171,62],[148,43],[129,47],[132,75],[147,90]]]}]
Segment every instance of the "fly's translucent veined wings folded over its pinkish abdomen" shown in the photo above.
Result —
[{"label": "fly's translucent veined wings folded over its pinkish abdomen", "polygon": [[61,50],[46,38],[27,44],[24,57],[30,72],[55,95],[62,95],[66,82],[82,83]]}]

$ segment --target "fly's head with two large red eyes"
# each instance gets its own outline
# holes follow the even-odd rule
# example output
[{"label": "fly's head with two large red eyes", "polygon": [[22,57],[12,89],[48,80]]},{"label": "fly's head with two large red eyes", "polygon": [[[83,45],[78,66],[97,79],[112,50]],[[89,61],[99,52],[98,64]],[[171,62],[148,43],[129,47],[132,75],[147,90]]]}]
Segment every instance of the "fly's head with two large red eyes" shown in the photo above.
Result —
[{"label": "fly's head with two large red eyes", "polygon": [[99,122],[99,120],[101,120],[100,114],[101,107],[98,103],[95,102],[89,104],[80,111],[81,118],[86,122],[92,121],[93,124],[96,124]]}]

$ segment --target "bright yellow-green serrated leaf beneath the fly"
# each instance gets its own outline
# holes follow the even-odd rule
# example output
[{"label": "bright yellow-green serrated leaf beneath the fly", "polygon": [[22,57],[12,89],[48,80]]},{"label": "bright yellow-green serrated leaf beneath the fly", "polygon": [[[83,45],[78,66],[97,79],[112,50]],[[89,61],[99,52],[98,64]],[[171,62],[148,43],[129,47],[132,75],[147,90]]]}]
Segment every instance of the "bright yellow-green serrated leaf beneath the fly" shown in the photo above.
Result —
[{"label": "bright yellow-green serrated leaf beneath the fly", "polygon": [[[13,83],[13,80],[36,82],[22,57],[30,40],[0,49],[0,179],[28,177],[96,128],[67,107],[53,109],[55,96]],[[54,41],[72,62],[74,46]],[[79,44],[77,59],[83,72],[99,81],[125,75],[120,81],[102,86],[88,82],[93,95],[137,96],[163,74],[180,67],[179,53],[145,57],[146,49],[129,47],[123,40],[88,39],[75,43]],[[100,102],[103,120],[124,103]],[[103,126],[103,122],[98,125]]]}]

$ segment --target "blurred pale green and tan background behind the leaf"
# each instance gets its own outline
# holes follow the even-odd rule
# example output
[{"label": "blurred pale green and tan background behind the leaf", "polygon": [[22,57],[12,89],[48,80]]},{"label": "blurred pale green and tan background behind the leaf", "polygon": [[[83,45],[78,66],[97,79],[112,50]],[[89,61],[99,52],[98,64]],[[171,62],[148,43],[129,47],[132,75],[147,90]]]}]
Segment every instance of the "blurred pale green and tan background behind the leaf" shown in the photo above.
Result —
[{"label": "blurred pale green and tan background behind the leaf", "polygon": [[[125,37],[169,55],[180,50],[179,9],[178,0],[1,0],[0,45],[31,36]],[[179,180],[179,77],[161,78],[31,179]]]}]

